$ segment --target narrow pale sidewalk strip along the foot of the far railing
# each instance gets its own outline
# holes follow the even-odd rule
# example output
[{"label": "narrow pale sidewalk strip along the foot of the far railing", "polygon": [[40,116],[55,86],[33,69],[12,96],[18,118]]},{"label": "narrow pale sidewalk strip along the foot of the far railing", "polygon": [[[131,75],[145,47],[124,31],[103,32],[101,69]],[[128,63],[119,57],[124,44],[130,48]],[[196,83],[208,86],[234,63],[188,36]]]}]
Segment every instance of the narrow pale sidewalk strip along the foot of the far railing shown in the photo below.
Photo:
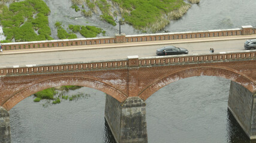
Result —
[{"label": "narrow pale sidewalk strip along the foot of the far railing", "polygon": [[213,41],[230,41],[240,39],[256,39],[256,35],[224,36],[211,38],[192,38],[192,39],[174,39],[165,41],[146,41],[146,42],[127,42],[127,43],[106,43],[98,45],[80,45],[80,46],[61,46],[52,48],[34,48],[34,49],[15,49],[7,50],[0,53],[6,54],[25,54],[33,52],[53,52],[53,51],[72,51],[83,49],[100,49],[100,48],[121,48],[129,46],[147,46],[147,45],[170,45],[174,43],[192,43],[192,42],[213,42]]}]

